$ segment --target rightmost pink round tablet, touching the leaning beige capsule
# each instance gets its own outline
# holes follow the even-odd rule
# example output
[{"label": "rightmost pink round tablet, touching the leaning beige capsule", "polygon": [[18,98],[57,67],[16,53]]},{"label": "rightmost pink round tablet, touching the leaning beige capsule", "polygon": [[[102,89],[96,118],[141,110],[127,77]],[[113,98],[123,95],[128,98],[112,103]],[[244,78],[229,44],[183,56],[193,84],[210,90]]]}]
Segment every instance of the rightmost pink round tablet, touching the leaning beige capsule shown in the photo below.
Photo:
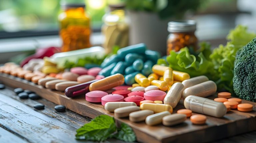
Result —
[{"label": "rightmost pink round tablet, touching the leaning beige capsule", "polygon": [[149,90],[149,91],[144,93],[144,98],[145,98],[145,100],[164,101],[165,95],[166,95],[166,93],[164,91],[161,91],[161,90]]}]

